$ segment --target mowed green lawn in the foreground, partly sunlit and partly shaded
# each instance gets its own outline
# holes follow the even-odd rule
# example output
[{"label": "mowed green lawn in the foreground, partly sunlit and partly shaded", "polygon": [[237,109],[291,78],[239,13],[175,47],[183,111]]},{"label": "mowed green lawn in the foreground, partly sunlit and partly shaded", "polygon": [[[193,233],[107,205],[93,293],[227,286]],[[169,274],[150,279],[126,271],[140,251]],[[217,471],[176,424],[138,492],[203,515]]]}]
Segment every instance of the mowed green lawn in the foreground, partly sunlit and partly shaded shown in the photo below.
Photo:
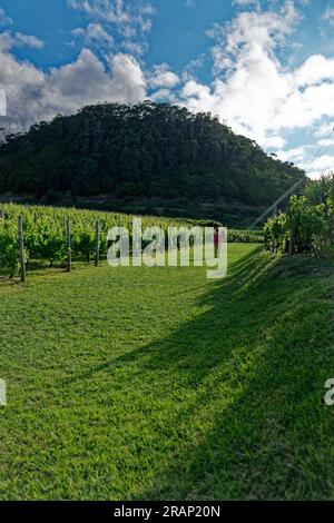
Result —
[{"label": "mowed green lawn in the foreground, partly sunlit and partly shaded", "polygon": [[0,282],[1,500],[334,497],[333,266],[229,246],[203,268]]}]

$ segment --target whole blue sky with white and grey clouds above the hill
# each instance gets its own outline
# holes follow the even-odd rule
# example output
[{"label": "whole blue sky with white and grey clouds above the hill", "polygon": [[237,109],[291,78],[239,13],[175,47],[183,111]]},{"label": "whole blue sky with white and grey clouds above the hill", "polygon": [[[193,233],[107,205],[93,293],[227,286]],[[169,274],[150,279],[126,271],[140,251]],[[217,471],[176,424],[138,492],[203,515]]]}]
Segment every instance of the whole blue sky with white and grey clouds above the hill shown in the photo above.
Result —
[{"label": "whole blue sky with white and grey clouds above the hill", "polygon": [[3,91],[11,130],[150,98],[317,177],[334,170],[334,0],[0,0],[2,112]]}]

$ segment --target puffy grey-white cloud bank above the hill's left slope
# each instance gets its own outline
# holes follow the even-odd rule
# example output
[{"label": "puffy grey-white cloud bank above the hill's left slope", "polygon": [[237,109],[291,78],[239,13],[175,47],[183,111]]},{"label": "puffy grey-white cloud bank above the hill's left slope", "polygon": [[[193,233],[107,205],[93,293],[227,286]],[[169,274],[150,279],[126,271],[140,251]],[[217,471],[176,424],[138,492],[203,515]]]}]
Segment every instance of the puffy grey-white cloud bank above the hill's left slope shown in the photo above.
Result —
[{"label": "puffy grey-white cloud bank above the hill's left slope", "polygon": [[0,47],[0,85],[7,92],[12,131],[57,114],[70,115],[101,101],[134,103],[146,98],[146,80],[129,55],[109,58],[109,67],[88,49],[77,60],[43,72]]}]

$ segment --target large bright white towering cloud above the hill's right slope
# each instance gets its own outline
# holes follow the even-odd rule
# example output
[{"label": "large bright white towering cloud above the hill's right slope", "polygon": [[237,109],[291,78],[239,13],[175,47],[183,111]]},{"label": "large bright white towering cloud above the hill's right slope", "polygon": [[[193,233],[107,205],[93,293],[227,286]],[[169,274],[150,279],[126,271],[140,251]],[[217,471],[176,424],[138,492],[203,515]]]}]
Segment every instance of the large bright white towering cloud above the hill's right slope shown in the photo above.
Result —
[{"label": "large bright white towering cloud above the hill's right slope", "polygon": [[[243,11],[232,22],[215,24],[215,80],[188,79],[180,100],[195,111],[208,110],[263,147],[285,147],[287,130],[334,117],[334,58],[310,57],[296,69],[278,58],[299,14],[292,1],[277,11]],[[296,151],[294,151],[295,154]],[[303,160],[303,151],[298,151]]]}]

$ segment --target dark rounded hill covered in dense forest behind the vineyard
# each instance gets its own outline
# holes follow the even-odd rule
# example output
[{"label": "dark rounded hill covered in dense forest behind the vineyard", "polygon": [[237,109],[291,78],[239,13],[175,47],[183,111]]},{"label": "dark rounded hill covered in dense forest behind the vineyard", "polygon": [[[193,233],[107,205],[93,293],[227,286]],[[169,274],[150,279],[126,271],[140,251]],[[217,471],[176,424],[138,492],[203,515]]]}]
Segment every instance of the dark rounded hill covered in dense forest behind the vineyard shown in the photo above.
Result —
[{"label": "dark rounded hill covered in dense forest behind the vineyard", "polygon": [[0,194],[262,206],[301,176],[209,114],[149,101],[86,107],[0,147]]}]

